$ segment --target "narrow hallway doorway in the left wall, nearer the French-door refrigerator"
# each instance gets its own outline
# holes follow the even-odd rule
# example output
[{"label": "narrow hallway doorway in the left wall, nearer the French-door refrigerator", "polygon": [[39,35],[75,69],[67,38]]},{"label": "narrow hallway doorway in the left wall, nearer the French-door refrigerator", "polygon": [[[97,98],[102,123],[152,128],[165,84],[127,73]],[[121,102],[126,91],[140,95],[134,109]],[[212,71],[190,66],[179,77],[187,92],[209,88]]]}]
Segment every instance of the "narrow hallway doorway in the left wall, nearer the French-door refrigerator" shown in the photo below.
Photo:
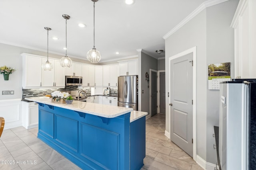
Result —
[{"label": "narrow hallway doorway in the left wall, nearer the French-door refrigerator", "polygon": [[157,113],[157,71],[150,69],[150,116]]}]

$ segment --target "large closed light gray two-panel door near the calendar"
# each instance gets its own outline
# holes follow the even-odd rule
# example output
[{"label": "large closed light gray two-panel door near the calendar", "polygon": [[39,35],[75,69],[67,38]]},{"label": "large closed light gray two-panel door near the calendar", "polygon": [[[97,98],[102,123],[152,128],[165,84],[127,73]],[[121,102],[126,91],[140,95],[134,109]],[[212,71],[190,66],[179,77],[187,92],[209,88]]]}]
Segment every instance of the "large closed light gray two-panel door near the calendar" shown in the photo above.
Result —
[{"label": "large closed light gray two-panel door near the calendar", "polygon": [[170,137],[193,157],[193,53],[170,60]]}]

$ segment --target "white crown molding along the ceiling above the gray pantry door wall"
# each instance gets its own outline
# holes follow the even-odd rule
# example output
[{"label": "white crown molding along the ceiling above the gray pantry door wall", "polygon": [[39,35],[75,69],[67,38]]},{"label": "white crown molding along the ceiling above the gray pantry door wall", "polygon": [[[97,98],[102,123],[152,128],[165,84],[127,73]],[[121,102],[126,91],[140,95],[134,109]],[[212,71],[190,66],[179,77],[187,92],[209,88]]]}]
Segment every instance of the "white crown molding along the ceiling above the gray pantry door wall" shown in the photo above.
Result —
[{"label": "white crown molding along the ceiling above the gray pantry door wall", "polygon": [[222,2],[226,2],[228,0],[208,0],[206,2],[203,2],[198,8],[196,8],[191,14],[189,14],[184,20],[182,20],[178,25],[176,25],[171,31],[169,31],[166,35],[164,35],[164,39],[167,39],[170,37],[170,35],[174,34],[178,29],[183,27],[188,21],[192,20],[197,14],[202,12],[205,8],[208,8],[210,6],[214,6],[216,4],[220,4]]}]

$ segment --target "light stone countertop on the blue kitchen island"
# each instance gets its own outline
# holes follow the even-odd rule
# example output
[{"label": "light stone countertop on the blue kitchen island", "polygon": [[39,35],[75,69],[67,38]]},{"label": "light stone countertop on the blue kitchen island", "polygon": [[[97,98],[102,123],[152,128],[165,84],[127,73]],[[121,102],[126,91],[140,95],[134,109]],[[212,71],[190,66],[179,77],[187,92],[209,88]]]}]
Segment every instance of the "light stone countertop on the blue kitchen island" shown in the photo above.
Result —
[{"label": "light stone countertop on the blue kitchen island", "polygon": [[[146,112],[141,112],[140,114],[138,111],[133,111],[131,108],[126,107],[119,107],[119,106],[109,106],[109,105],[103,105],[103,104],[95,104],[95,103],[89,103],[89,102],[80,102],[74,100],[72,104],[61,104],[58,102],[52,102],[49,97],[31,97],[31,98],[25,98],[26,100],[31,100],[38,103],[48,104],[56,107],[62,107],[64,109],[70,109],[74,111],[80,111],[82,113],[89,113],[92,115],[97,115],[101,117],[108,117],[113,118],[120,115],[123,115],[125,113],[131,112],[130,122],[139,119],[140,117],[143,117],[146,115]],[[145,114],[146,113],[146,114]],[[137,115],[137,116],[136,116]],[[131,121],[132,120],[132,121]]]}]

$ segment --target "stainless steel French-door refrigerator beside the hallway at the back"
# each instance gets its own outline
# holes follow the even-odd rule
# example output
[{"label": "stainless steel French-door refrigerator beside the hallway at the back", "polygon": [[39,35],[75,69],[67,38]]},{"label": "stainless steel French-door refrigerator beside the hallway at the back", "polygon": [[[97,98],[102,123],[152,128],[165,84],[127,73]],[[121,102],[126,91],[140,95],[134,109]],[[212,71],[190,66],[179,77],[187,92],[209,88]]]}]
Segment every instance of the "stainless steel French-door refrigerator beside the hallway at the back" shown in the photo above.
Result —
[{"label": "stainless steel French-door refrigerator beside the hallway at the back", "polygon": [[118,77],[118,106],[138,110],[138,76]]}]

